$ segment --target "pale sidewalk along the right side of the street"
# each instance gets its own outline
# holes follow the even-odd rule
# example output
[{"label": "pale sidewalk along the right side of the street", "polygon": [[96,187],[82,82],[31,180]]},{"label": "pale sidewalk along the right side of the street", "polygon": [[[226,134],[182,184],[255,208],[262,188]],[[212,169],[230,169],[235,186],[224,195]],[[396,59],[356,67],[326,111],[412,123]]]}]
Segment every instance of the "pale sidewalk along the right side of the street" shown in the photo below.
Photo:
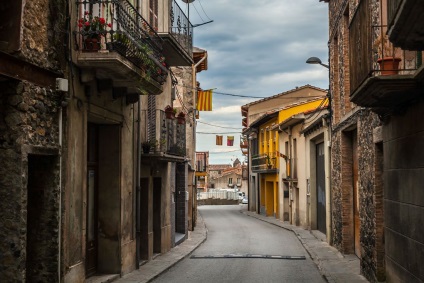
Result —
[{"label": "pale sidewalk along the right side of the street", "polygon": [[342,255],[336,248],[330,246],[325,239],[320,239],[317,232],[305,230],[281,222],[273,217],[266,217],[251,211],[242,211],[244,214],[259,220],[292,231],[300,240],[306,251],[317,265],[322,276],[330,283],[368,282],[359,270],[359,258],[356,255]]}]

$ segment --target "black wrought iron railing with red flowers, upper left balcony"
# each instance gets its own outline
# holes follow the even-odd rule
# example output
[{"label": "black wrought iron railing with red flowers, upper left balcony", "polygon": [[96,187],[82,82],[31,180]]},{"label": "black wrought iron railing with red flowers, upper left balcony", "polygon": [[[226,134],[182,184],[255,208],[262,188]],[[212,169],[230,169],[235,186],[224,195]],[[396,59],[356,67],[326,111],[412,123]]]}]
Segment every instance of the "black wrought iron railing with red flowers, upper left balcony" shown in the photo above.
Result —
[{"label": "black wrought iron railing with red flowers, upper left balcony", "polygon": [[76,49],[117,52],[163,84],[168,75],[163,40],[128,0],[76,1]]}]

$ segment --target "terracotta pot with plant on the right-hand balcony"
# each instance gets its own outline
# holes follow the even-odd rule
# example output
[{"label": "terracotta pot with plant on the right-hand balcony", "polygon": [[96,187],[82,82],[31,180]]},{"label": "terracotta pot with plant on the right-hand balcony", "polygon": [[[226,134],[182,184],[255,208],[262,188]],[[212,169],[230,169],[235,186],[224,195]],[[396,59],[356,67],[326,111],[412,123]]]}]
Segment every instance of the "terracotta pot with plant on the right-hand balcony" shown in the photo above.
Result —
[{"label": "terracotta pot with plant on the right-hand balcony", "polygon": [[401,58],[396,57],[397,48],[389,41],[386,34],[377,37],[374,41],[374,48],[378,52],[379,58],[377,59],[377,63],[380,66],[381,75],[396,75]]}]

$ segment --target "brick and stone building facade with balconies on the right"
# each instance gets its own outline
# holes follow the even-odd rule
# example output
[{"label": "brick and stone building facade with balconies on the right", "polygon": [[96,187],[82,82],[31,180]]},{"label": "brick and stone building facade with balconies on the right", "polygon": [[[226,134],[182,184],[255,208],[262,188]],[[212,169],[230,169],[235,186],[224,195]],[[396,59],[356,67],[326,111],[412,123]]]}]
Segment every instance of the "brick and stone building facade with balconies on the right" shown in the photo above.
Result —
[{"label": "brick and stone building facade with balconies on the right", "polygon": [[[422,202],[412,201],[412,196],[422,196],[414,185],[420,182],[415,173],[420,170],[417,148],[422,139],[415,115],[421,107],[422,52],[393,46],[387,33],[398,19],[392,31],[402,33],[409,13],[422,4],[411,8],[413,1],[402,2],[409,12],[399,18],[394,15],[402,11],[396,7],[400,2],[325,2],[330,25],[332,244],[356,254],[361,273],[371,282],[421,282],[417,258],[422,258],[423,237],[413,227],[422,225],[410,216],[422,213]],[[415,20],[409,26],[414,25]],[[409,35],[408,40],[417,42],[413,32]],[[392,61],[400,61],[398,67],[381,64],[388,50]]]}]

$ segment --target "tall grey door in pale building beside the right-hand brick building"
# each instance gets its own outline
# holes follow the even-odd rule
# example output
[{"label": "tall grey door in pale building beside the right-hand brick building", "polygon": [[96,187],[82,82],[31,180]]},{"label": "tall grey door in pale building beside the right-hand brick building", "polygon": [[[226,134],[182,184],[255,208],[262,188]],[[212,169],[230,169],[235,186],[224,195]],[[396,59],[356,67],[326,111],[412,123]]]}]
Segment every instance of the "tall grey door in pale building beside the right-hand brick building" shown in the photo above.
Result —
[{"label": "tall grey door in pale building beside the right-hand brick building", "polygon": [[317,229],[326,234],[324,143],[316,145]]}]

